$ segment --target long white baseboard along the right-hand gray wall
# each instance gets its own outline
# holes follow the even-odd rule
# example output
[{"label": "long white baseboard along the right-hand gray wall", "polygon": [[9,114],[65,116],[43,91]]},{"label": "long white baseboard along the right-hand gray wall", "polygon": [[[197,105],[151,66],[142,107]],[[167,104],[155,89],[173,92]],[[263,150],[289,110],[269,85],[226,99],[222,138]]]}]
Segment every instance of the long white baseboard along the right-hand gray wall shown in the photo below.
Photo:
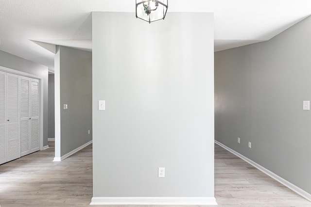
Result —
[{"label": "long white baseboard along the right-hand gray wall", "polygon": [[275,173],[271,172],[270,170],[262,167],[261,165],[257,164],[256,162],[254,162],[251,159],[246,158],[245,156],[241,155],[240,153],[234,151],[233,149],[227,147],[226,145],[224,145],[223,143],[220,143],[218,141],[215,140],[215,143],[218,144],[219,146],[223,147],[224,149],[228,150],[229,152],[231,152],[232,154],[238,156],[239,158],[243,159],[244,161],[248,162],[249,164],[253,165],[254,167],[256,167],[258,170],[260,170],[261,172],[263,172],[264,174],[272,177],[273,179],[275,179],[276,181],[278,181],[279,183],[283,184],[284,186],[286,186],[287,188],[291,189],[292,191],[296,192],[297,194],[301,195],[302,197],[304,197],[305,199],[311,201],[311,194],[302,190],[301,188],[295,186],[293,183],[285,180],[284,178],[276,175]]}]

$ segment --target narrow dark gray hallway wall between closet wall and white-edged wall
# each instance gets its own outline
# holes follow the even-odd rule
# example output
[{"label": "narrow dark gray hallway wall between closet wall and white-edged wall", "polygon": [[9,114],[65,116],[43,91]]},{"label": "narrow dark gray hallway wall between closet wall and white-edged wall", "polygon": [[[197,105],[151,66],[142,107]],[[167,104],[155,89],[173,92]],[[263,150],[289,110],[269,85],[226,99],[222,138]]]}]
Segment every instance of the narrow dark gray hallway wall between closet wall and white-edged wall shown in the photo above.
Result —
[{"label": "narrow dark gray hallway wall between closet wall and white-edged wall", "polygon": [[49,134],[48,138],[55,138],[55,107],[54,107],[54,75],[49,74]]}]

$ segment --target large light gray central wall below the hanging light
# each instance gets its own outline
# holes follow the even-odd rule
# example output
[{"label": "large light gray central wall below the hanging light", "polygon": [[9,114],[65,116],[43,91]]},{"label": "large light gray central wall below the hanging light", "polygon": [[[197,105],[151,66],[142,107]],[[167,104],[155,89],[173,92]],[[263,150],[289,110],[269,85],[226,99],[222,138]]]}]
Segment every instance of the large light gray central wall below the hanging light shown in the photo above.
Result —
[{"label": "large light gray central wall below the hanging light", "polygon": [[213,14],[92,21],[93,196],[214,197]]}]

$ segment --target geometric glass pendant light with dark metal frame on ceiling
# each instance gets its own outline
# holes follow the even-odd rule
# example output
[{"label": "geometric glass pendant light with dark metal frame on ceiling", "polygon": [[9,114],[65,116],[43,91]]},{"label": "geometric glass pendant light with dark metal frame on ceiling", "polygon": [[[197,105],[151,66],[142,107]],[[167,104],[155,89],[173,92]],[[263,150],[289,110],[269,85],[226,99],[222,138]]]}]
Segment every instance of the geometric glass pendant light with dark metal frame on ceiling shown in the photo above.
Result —
[{"label": "geometric glass pendant light with dark metal frame on ceiling", "polygon": [[136,17],[147,22],[164,19],[168,0],[136,0]]}]

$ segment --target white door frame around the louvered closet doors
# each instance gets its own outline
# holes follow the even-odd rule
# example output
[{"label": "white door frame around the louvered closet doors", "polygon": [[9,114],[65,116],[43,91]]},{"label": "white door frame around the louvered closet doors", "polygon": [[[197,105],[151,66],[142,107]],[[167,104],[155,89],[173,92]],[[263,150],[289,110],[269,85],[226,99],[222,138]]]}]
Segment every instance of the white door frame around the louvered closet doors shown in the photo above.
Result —
[{"label": "white door frame around the louvered closet doors", "polygon": [[3,67],[3,66],[0,66],[0,70],[3,72],[12,73],[12,74],[39,80],[39,84],[40,84],[40,150],[43,150],[43,79],[39,76],[30,74],[30,73],[25,73],[19,70],[14,70],[14,69]]}]

